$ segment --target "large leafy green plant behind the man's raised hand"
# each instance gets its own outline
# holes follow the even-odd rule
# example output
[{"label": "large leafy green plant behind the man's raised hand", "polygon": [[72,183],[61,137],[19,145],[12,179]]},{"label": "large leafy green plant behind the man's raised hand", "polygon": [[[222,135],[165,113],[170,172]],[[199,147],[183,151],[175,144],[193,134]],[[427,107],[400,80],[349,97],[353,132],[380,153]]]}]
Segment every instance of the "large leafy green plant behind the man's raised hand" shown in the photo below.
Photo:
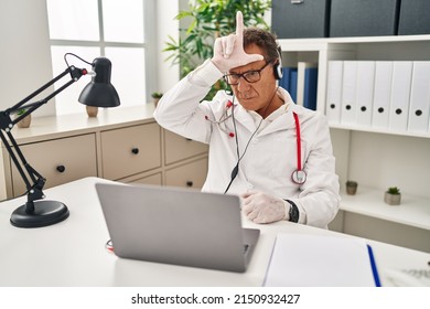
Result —
[{"label": "large leafy green plant behind the man's raised hand", "polygon": [[[175,19],[189,19],[190,26],[180,29],[179,41],[169,36],[164,52],[172,54],[166,61],[180,65],[181,78],[212,57],[216,38],[234,33],[236,30],[236,12],[241,11],[246,26],[269,29],[265,13],[271,8],[270,0],[196,0],[190,1],[189,10],[181,11]],[[226,89],[224,79],[212,86],[206,99],[211,99],[217,90]]]}]

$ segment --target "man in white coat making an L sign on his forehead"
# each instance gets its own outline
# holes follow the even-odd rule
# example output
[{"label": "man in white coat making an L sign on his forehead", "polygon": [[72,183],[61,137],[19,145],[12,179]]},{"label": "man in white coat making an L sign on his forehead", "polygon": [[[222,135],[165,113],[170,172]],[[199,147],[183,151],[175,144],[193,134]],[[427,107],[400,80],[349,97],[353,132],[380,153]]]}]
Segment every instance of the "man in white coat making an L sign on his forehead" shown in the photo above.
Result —
[{"label": "man in white coat making an L sign on his forehead", "polygon": [[[297,106],[278,86],[275,35],[245,29],[219,38],[214,56],[160,100],[154,118],[164,128],[209,145],[202,191],[239,194],[256,223],[281,220],[325,227],[338,210],[338,179],[324,116]],[[211,86],[226,79],[233,94]]]}]

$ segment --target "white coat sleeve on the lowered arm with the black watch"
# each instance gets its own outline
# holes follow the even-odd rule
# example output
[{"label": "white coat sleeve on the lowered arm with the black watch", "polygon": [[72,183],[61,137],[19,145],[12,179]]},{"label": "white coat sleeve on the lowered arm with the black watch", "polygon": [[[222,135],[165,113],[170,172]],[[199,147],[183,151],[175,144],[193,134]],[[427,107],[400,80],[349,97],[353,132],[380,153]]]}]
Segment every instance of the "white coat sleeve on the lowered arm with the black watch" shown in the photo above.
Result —
[{"label": "white coat sleeve on the lowered arm with the black watch", "polygon": [[318,227],[327,227],[338,211],[340,184],[335,173],[335,158],[326,118],[316,115],[309,125],[307,142],[310,147],[304,164],[308,179],[298,199],[291,199],[305,213],[305,223]]}]

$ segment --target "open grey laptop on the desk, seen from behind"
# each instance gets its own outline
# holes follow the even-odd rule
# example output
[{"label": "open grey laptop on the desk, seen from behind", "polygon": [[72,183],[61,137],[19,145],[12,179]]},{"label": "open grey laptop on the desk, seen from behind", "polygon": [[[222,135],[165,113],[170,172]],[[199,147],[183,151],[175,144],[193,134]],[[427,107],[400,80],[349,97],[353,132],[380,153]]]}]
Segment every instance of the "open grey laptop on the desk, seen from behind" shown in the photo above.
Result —
[{"label": "open grey laptop on the desk, seen from behind", "polygon": [[122,183],[96,191],[117,256],[246,271],[260,231],[241,227],[238,196]]}]

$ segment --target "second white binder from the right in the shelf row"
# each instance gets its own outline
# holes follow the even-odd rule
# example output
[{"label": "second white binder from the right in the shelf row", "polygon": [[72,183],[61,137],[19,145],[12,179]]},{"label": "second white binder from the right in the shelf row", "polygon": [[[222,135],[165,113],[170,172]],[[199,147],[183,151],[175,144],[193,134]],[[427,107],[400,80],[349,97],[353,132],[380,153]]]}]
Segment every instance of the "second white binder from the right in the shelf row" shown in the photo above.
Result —
[{"label": "second white binder from the right in the shelf row", "polygon": [[408,128],[411,61],[395,61],[393,64],[391,103],[389,107],[389,129],[406,131]]}]

